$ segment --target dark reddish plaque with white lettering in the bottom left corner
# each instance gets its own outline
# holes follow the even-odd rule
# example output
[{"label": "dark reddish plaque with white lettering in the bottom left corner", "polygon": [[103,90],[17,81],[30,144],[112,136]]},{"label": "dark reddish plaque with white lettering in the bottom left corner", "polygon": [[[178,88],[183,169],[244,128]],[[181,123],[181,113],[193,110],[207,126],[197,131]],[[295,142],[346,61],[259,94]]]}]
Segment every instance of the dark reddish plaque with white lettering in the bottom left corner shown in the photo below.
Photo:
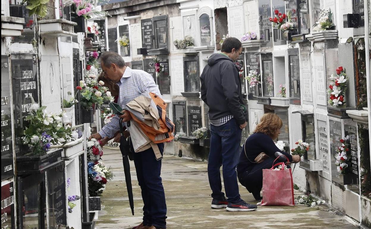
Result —
[{"label": "dark reddish plaque with white lettering in the bottom left corner", "polygon": [[13,182],[1,186],[1,229],[14,229]]}]

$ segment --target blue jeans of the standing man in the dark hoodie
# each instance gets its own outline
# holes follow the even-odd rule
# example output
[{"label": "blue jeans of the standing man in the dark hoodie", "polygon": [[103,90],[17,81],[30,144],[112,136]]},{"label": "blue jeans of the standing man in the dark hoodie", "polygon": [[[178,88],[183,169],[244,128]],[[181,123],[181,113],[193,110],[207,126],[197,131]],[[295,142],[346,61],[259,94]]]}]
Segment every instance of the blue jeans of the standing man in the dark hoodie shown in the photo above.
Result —
[{"label": "blue jeans of the standing man in the dark hoodie", "polygon": [[239,148],[242,130],[236,120],[232,118],[221,126],[210,125],[210,154],[207,164],[209,183],[213,193],[211,197],[223,200],[221,192],[220,167],[223,165],[224,190],[228,202],[239,203],[241,197],[238,190],[236,166],[239,161]]}]

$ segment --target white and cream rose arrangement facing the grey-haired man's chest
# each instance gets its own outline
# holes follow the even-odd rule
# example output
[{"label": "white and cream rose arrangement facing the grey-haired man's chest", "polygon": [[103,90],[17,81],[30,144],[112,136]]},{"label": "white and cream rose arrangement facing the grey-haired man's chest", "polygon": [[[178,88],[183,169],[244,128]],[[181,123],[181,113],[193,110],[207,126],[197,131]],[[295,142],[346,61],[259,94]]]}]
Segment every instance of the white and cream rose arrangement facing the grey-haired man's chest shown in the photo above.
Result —
[{"label": "white and cream rose arrangement facing the grey-haired man's chest", "polygon": [[93,104],[100,108],[103,102],[111,102],[114,99],[108,88],[104,86],[104,82],[97,82],[96,75],[93,74],[85,78],[85,81],[80,81],[80,86],[77,86],[76,89],[81,93],[82,109],[90,109]]}]

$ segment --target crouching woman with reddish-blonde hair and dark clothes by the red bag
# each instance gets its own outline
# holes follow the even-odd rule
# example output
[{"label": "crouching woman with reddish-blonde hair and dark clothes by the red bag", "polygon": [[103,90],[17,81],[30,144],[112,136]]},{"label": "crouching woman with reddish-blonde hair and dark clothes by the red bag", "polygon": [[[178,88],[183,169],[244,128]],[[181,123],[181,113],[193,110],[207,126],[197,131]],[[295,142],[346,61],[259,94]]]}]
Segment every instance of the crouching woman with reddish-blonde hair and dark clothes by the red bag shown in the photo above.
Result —
[{"label": "crouching woman with reddish-blonde hair and dark clothes by the red bag", "polygon": [[[250,135],[243,144],[240,154],[240,162],[237,165],[237,177],[240,183],[253,194],[256,200],[262,200],[260,191],[263,186],[263,169],[270,169],[276,159],[275,153],[284,154],[290,162],[299,162],[298,155],[280,151],[274,141],[281,133],[282,120],[273,113],[264,114],[256,126],[254,133]],[[267,156],[264,160],[256,157],[264,152]],[[286,158],[285,158],[286,159]],[[279,162],[279,159],[276,163]]]}]

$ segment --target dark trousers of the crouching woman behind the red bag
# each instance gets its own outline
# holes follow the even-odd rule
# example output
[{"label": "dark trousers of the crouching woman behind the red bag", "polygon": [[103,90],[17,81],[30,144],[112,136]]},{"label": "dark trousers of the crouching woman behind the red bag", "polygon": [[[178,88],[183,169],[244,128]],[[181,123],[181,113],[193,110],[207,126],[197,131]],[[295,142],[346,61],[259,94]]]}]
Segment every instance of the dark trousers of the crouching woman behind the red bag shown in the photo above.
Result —
[{"label": "dark trousers of the crouching woman behind the red bag", "polygon": [[[251,170],[238,174],[238,180],[250,193],[260,193],[263,187],[263,169],[272,168],[275,159],[276,158],[270,157],[265,159],[262,163],[253,164]],[[276,160],[275,164],[279,162],[282,161]],[[290,168],[288,165],[287,167]]]}]

